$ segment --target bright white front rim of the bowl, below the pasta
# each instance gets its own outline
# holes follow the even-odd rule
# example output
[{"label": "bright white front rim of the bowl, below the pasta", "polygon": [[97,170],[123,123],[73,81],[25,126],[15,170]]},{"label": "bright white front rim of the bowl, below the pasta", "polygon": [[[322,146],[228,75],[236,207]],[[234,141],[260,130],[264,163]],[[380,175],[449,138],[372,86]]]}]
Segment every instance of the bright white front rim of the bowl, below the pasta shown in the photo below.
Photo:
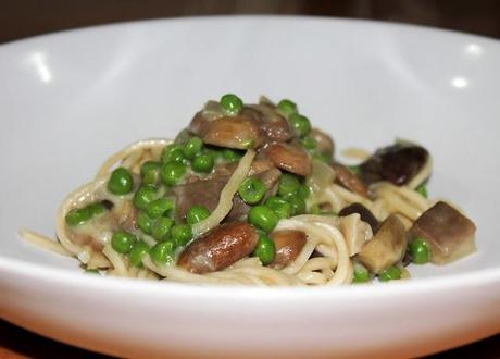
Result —
[{"label": "bright white front rim of the bowl, below the pasta", "polygon": [[[355,293],[357,296],[372,295],[395,295],[395,292],[404,290],[418,290],[418,292],[433,292],[443,290],[455,287],[463,287],[465,282],[474,283],[475,285],[500,285],[500,268],[489,268],[484,270],[474,271],[471,273],[449,274],[446,276],[436,276],[429,278],[415,278],[409,281],[390,282],[386,284],[366,284],[366,285],[350,285],[350,286],[320,286],[320,287],[298,287],[298,286],[278,286],[278,287],[255,287],[255,286],[233,286],[233,285],[193,285],[182,284],[173,282],[150,282],[146,280],[129,280],[120,277],[99,277],[91,275],[83,275],[80,272],[71,272],[67,270],[55,269],[42,264],[34,264],[25,261],[0,257],[0,270],[5,273],[21,274],[30,277],[33,281],[50,277],[54,282],[61,284],[74,284],[75,281],[82,284],[100,287],[103,285],[107,289],[111,287],[120,289],[134,289],[134,290],[171,290],[175,287],[183,287],[183,294],[199,296],[211,295],[216,296],[242,296],[248,297],[252,294],[259,296],[268,295],[273,300],[276,296],[284,296],[289,298],[290,292],[293,296],[351,296]],[[238,288],[238,290],[234,290]],[[366,290],[370,288],[370,290]],[[215,290],[214,290],[215,289]]]}]

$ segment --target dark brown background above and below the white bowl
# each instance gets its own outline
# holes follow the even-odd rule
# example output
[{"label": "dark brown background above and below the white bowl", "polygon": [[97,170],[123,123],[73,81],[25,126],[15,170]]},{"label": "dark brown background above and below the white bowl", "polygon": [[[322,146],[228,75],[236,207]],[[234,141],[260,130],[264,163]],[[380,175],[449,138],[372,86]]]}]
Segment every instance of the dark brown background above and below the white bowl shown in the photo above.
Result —
[{"label": "dark brown background above and below the white bowl", "polygon": [[[495,0],[0,0],[0,44],[90,25],[223,14],[367,18],[500,38],[500,1]],[[433,358],[500,358],[499,342],[497,335]],[[0,320],[0,359],[89,356]]]}]

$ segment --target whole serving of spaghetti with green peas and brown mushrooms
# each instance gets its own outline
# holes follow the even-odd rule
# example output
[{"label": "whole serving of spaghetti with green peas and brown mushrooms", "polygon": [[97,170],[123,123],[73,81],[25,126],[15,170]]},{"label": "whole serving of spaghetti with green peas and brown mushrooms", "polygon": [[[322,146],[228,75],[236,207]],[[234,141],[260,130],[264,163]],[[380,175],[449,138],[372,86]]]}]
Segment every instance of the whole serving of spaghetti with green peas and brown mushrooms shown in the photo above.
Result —
[{"label": "whole serving of spaghetti with green peas and brown mushrooms", "polygon": [[[111,156],[64,199],[57,242],[20,234],[87,271],[218,285],[397,280],[410,261],[446,263],[474,250],[474,224],[426,198],[425,149],[348,153],[363,162],[340,164],[332,138],[293,102],[246,107],[229,94],[175,140],[140,140]],[[436,215],[460,226],[455,238],[428,227]]]}]

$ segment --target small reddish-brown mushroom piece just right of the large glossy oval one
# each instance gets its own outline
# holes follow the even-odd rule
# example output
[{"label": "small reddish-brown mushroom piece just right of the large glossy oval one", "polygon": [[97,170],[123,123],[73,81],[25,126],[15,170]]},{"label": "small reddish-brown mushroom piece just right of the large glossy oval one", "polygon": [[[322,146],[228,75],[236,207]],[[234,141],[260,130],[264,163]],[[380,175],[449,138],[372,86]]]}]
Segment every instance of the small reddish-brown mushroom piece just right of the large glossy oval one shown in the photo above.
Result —
[{"label": "small reddish-brown mushroom piece just right of the large glossy oval one", "polygon": [[305,233],[296,230],[275,231],[270,236],[276,247],[276,256],[270,264],[274,269],[282,269],[293,262],[307,242]]}]

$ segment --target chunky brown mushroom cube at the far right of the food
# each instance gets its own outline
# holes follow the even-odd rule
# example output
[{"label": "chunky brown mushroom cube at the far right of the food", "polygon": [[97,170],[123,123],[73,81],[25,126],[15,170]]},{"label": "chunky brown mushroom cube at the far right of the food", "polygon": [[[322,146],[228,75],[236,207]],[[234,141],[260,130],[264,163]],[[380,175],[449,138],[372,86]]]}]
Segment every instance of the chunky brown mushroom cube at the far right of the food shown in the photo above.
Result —
[{"label": "chunky brown mushroom cube at the far right of the food", "polygon": [[413,223],[413,236],[430,247],[430,261],[446,264],[473,252],[476,226],[465,215],[445,202],[437,202]]}]

